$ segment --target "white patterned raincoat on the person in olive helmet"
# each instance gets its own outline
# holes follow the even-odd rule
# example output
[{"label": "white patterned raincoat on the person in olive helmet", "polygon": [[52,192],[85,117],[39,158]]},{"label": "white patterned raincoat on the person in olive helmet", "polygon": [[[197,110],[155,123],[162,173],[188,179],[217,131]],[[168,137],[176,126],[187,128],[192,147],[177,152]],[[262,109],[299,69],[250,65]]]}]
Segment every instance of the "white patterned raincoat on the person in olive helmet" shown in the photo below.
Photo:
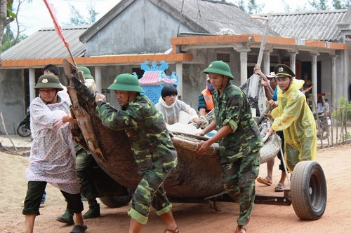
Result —
[{"label": "white patterned raincoat on the person in olive helmet", "polygon": [[28,181],[46,181],[62,191],[77,194],[72,125],[62,122],[62,117],[69,115],[70,103],[60,93],[58,96],[61,101],[56,104],[45,104],[40,97],[30,104],[33,142],[26,176]]}]

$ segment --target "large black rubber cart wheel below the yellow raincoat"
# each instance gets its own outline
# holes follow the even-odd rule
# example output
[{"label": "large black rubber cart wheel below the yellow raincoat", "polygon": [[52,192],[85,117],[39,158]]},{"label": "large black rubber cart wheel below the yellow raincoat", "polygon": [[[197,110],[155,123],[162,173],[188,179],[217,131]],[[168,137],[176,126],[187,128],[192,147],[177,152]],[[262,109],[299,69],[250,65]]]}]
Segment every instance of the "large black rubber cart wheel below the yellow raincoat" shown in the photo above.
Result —
[{"label": "large black rubber cart wheel below the yellow raincoat", "polygon": [[326,209],[326,178],[319,163],[296,164],[291,176],[291,203],[298,218],[317,220]]}]

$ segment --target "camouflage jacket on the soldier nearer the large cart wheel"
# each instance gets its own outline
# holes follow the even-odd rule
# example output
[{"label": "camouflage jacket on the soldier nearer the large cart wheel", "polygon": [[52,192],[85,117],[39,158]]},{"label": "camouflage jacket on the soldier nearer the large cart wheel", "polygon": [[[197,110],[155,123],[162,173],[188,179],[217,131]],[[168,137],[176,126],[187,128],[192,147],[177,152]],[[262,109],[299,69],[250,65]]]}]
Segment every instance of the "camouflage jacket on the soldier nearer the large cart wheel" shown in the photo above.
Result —
[{"label": "camouflage jacket on the soldier nearer the large cart wheel", "polygon": [[220,162],[234,162],[239,157],[257,153],[263,141],[244,92],[228,83],[222,95],[218,90],[213,93],[213,104],[217,129],[225,125],[232,128],[232,132],[219,141]]}]

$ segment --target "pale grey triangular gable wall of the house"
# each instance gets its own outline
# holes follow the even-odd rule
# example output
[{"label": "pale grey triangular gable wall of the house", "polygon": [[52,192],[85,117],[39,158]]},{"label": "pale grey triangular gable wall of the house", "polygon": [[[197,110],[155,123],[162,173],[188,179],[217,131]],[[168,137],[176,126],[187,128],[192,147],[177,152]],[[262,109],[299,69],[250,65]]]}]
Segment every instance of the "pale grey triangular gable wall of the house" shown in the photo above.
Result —
[{"label": "pale grey triangular gable wall of the house", "polygon": [[[86,43],[86,56],[165,52],[178,21],[148,0],[134,1]],[[180,31],[191,32],[183,24]]]}]

